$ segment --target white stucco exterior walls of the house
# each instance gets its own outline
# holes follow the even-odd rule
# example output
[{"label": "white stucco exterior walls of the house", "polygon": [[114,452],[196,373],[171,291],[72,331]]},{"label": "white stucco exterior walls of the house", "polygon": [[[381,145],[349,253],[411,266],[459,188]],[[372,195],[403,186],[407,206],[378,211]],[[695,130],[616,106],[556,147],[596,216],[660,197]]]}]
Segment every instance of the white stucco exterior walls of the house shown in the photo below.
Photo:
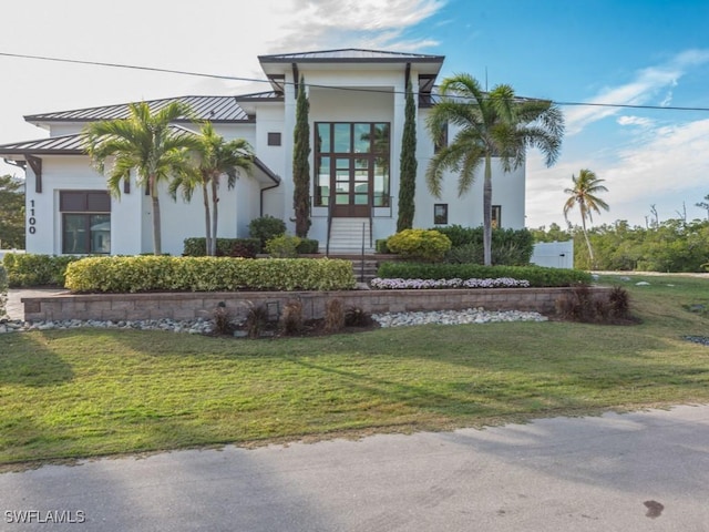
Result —
[{"label": "white stucco exterior walls of the house", "polygon": [[[373,218],[373,237],[384,238],[395,232],[398,216],[398,195],[400,178],[400,150],[404,123],[405,86],[404,70],[389,70],[389,66],[363,70],[361,65],[343,65],[335,70],[332,65],[307,65],[299,74],[305,76],[309,86],[310,101],[310,140],[314,139],[316,122],[389,122],[390,129],[390,194],[391,209],[377,209]],[[411,72],[414,86],[418,85],[418,73]],[[286,92],[284,103],[273,101],[249,102],[249,113],[255,110],[256,123],[219,124],[216,131],[226,139],[245,139],[254,147],[256,155],[281,178],[279,186],[260,192],[263,187],[271,187],[273,183],[247,177],[238,180],[235,190],[227,190],[226,182],[219,190],[219,237],[246,237],[251,219],[269,214],[285,219],[292,233],[292,131],[295,126],[296,98],[292,72],[286,68]],[[335,86],[353,90],[325,89]],[[367,89],[368,91],[357,91]],[[446,175],[441,198],[434,198],[425,184],[425,170],[433,155],[433,142],[425,130],[425,116],[429,110],[419,110],[417,131],[417,208],[415,227],[432,227],[433,205],[448,204],[449,225],[482,225],[482,167],[472,188],[463,197],[458,196],[456,175]],[[182,124],[198,131],[198,126]],[[51,124],[52,135],[63,135],[81,131],[82,124]],[[268,133],[280,133],[281,145],[269,146]],[[454,132],[449,133],[452,139]],[[38,135],[41,136],[41,135]],[[314,165],[311,145],[310,168]],[[44,192],[35,194],[33,175],[28,168],[28,207],[35,203],[37,232],[28,235],[28,250],[31,253],[61,253],[61,214],[59,213],[60,190],[105,190],[105,177],[97,174],[89,165],[88,157],[52,156],[43,157]],[[502,205],[502,227],[524,227],[525,205],[524,167],[505,174],[497,162],[493,167],[493,205]],[[312,187],[311,187],[312,188]],[[311,191],[312,194],[312,191]],[[183,241],[189,236],[204,236],[204,207],[202,192],[195,191],[192,203],[182,198],[174,202],[161,188],[162,238],[163,250],[173,255],[183,252]],[[29,212],[29,209],[28,209]],[[50,214],[52,213],[52,214]],[[327,235],[327,209],[314,209],[309,237],[319,239],[323,245]],[[112,253],[138,254],[151,253],[152,204],[150,197],[132,184],[131,194],[112,201]]]}]

